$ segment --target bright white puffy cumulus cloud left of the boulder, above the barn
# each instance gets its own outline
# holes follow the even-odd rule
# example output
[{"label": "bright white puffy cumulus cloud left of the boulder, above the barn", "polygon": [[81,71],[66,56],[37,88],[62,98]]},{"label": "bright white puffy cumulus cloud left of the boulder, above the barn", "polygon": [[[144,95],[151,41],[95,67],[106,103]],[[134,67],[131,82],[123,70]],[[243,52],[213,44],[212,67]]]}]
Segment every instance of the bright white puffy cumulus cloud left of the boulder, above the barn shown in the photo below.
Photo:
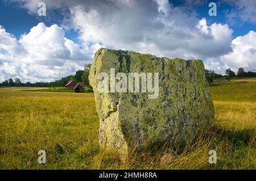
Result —
[{"label": "bright white puffy cumulus cloud left of the boulder, above the barn", "polygon": [[[88,50],[89,51],[89,50]],[[0,81],[54,81],[81,70],[92,60],[81,45],[65,37],[63,28],[39,23],[17,40],[0,27]]]}]

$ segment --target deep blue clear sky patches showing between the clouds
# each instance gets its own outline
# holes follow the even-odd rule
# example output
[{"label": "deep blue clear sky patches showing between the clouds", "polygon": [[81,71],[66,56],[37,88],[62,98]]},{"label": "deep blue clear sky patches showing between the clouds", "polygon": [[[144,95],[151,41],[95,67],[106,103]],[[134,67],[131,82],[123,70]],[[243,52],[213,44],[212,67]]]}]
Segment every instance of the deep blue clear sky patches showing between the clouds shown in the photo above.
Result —
[{"label": "deep blue clear sky patches showing between the clouds", "polygon": [[[185,2],[180,0],[170,2],[177,7],[185,5]],[[210,7],[207,5],[209,2],[216,2],[217,16],[208,15]],[[233,7],[229,3],[222,2],[218,4],[218,1],[207,1],[206,6],[205,4],[202,4],[191,7],[197,12],[199,18],[206,18],[207,22],[209,23],[228,23],[234,31],[233,37],[245,35],[245,33],[249,32],[250,30],[256,31],[256,23],[243,22],[241,19],[237,18],[236,24],[232,24],[228,21],[228,19],[226,19],[225,12],[232,10]],[[36,14],[28,13],[28,10],[19,7],[18,3],[0,1],[0,22],[8,32],[12,33],[18,38],[23,33],[29,32],[31,27],[36,26],[40,22],[43,22],[47,26],[51,26],[51,24],[61,25],[61,20],[64,18],[63,12],[61,12],[59,9],[50,11],[50,13],[54,14],[54,16],[51,16],[51,18],[46,18],[45,16],[38,16]],[[75,30],[66,30],[65,33],[66,36],[72,40],[77,40],[77,36],[79,35],[79,32]]]}]

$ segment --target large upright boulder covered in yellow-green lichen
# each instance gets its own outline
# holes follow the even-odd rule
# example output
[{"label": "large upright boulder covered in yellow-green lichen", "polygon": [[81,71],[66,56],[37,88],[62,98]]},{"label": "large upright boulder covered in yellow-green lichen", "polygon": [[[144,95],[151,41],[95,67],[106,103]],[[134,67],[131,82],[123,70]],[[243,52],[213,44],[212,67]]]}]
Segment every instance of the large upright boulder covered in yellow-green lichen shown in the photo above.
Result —
[{"label": "large upright boulder covered in yellow-green lichen", "polygon": [[[127,77],[129,73],[159,73],[158,95],[149,98],[150,92],[99,91],[102,79],[98,75],[106,73],[111,77],[110,69]],[[201,60],[101,48],[94,56],[89,81],[100,117],[99,141],[103,147],[128,151],[134,146],[170,140],[183,142],[214,121],[213,102]],[[142,79],[140,83],[141,90],[145,85]]]}]

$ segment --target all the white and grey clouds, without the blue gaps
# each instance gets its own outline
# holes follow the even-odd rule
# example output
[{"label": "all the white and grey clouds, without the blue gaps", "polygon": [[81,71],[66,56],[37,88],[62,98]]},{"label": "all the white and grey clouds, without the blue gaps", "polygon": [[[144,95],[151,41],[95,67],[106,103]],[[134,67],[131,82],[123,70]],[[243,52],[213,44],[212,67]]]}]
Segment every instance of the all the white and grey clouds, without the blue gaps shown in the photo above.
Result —
[{"label": "all the white and grey clouds, without the blue gaps", "polygon": [[[37,13],[40,2],[11,1],[18,2],[32,14]],[[44,2],[47,11],[63,7],[69,9],[62,27],[73,28],[79,32],[79,44],[67,39],[63,28],[57,25],[46,27],[39,23],[19,40],[1,28],[0,36],[7,36],[11,42],[9,47],[5,41],[0,45],[0,67],[3,69],[3,63],[6,62],[6,73],[8,66],[13,66],[14,62],[22,62],[25,65],[19,66],[19,70],[26,70],[23,77],[38,66],[45,66],[44,69],[49,70],[50,79],[64,77],[71,72],[70,66],[79,68],[86,60],[92,61],[94,52],[100,47],[134,50],[170,58],[200,58],[204,60],[207,69],[217,73],[224,73],[226,68],[256,69],[253,60],[255,41],[249,43],[249,39],[255,40],[254,32],[233,40],[233,30],[228,24],[209,23],[205,18],[199,19],[195,10],[189,9],[189,6],[207,6],[205,0],[183,0],[185,5],[179,7],[174,7],[167,0]],[[254,22],[254,12],[251,11],[251,7],[254,7],[253,1],[249,0],[247,5],[245,1],[239,0],[232,5],[241,5],[242,8],[237,12],[246,21]],[[246,12],[252,16],[246,16]],[[28,69],[28,65],[31,69]],[[47,77],[47,72],[40,74],[43,73]],[[36,76],[39,75],[34,74],[32,77]],[[43,80],[42,76],[40,79]]]}]

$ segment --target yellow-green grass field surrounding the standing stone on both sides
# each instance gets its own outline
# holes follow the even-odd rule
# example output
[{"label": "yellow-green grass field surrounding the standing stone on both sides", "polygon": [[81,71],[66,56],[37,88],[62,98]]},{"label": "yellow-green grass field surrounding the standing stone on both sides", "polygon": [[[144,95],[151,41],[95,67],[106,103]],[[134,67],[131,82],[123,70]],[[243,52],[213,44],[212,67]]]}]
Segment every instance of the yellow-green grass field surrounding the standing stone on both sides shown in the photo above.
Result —
[{"label": "yellow-green grass field surrounding the standing stone on both sides", "polygon": [[[0,169],[256,169],[256,78],[211,92],[216,121],[208,131],[184,146],[167,143],[122,159],[98,145],[93,93],[2,88]],[[37,161],[41,149],[47,164]],[[209,150],[217,151],[217,164],[208,163]]]}]

